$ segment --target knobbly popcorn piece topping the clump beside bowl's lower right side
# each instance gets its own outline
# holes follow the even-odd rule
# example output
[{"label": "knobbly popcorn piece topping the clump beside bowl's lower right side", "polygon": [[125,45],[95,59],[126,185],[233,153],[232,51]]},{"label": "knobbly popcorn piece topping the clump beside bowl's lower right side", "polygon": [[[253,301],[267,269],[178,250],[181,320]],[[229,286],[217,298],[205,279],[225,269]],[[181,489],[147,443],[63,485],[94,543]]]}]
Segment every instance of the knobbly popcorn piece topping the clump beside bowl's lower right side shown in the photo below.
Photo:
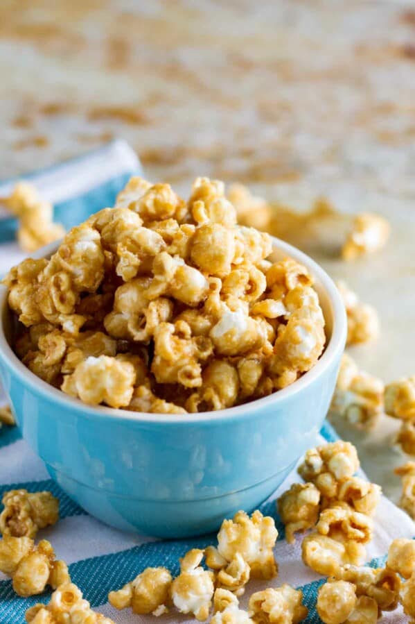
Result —
[{"label": "knobbly popcorn piece topping the clump beside bowl's lower right side", "polygon": [[338,440],[310,448],[299,466],[299,475],[312,482],[322,496],[336,498],[339,482],[354,475],[360,466],[353,444]]}]

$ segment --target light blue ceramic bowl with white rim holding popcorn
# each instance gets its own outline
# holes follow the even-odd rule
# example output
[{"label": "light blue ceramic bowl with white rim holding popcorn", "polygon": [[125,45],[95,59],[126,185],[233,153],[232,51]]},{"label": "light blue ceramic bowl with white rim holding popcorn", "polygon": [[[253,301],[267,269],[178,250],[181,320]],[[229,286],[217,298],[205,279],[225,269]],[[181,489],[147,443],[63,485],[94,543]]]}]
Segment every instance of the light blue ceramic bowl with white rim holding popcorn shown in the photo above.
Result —
[{"label": "light blue ceramic bowl with white rim holding popcorn", "polygon": [[218,412],[137,414],[89,407],[51,387],[10,348],[12,321],[6,289],[0,288],[1,380],[17,425],[51,477],[89,514],[156,537],[211,532],[238,509],[258,507],[315,444],[344,350],[346,315],[318,264],[278,239],[273,244],[276,259],[290,255],[315,276],[326,350],[291,386]]}]

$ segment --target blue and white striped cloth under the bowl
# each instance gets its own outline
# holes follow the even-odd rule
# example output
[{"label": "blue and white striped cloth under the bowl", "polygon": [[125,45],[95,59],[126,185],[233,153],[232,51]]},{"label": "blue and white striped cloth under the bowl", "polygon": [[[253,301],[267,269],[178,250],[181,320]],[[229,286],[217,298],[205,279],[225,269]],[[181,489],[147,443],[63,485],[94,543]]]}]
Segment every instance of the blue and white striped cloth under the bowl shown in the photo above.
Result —
[{"label": "blue and white striped cloth under the bowl", "polygon": [[[91,155],[30,176],[42,194],[55,203],[56,220],[69,227],[82,221],[91,212],[113,205],[116,193],[134,173],[140,171],[132,150],[115,142]],[[0,196],[10,188],[0,185]],[[1,220],[0,214],[0,273],[21,260],[21,252],[12,241],[15,222]],[[324,425],[316,444],[333,441],[335,433]],[[291,546],[285,541],[284,528],[276,514],[275,499],[292,482],[298,480],[295,471],[288,477],[261,511],[273,516],[279,530],[275,553],[279,562],[279,576],[267,582],[249,583],[241,605],[246,606],[252,591],[265,587],[278,587],[284,582],[303,590],[303,602],[310,609],[307,623],[320,622],[315,611],[317,590],[322,580],[301,562],[301,539]],[[86,514],[48,478],[43,462],[21,439],[17,428],[0,429],[0,497],[4,491],[15,488],[29,491],[47,489],[60,498],[60,521],[57,525],[39,532],[39,538],[51,541],[57,557],[69,564],[73,582],[84,592],[92,607],[111,617],[118,624],[154,622],[152,616],[134,616],[130,609],[117,612],[107,602],[108,592],[132,580],[147,566],[166,566],[173,574],[179,571],[179,557],[190,548],[204,548],[215,543],[215,536],[188,540],[160,541],[136,534],[127,534],[109,528]],[[414,537],[415,525],[410,518],[382,498],[375,518],[375,534],[369,544],[368,562],[378,567],[385,562],[387,548],[396,537]],[[50,593],[33,598],[19,598],[12,584],[0,573],[0,624],[24,623],[26,609],[35,602],[48,602]],[[191,621],[172,610],[163,616],[166,624]],[[400,610],[385,614],[382,621],[400,624],[407,621]]]}]

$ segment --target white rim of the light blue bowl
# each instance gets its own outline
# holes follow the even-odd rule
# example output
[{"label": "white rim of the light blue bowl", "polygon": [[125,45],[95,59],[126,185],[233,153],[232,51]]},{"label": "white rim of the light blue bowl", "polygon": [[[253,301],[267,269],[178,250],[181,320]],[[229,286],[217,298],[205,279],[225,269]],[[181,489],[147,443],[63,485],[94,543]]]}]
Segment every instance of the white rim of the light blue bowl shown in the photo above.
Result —
[{"label": "white rim of the light blue bowl", "polygon": [[[149,412],[121,410],[115,407],[107,407],[105,405],[87,405],[87,403],[83,403],[80,399],[65,394],[62,390],[49,385],[44,380],[35,376],[35,374],[32,373],[21,362],[21,360],[19,360],[14,351],[12,351],[4,332],[4,313],[8,305],[8,289],[4,285],[0,285],[0,358],[3,360],[3,363],[12,369],[15,375],[21,379],[23,385],[29,385],[35,389],[37,394],[42,392],[44,394],[49,394],[51,400],[55,400],[56,403],[63,404],[64,407],[89,418],[95,417],[102,419],[105,417],[114,418],[117,422],[136,421],[139,423],[160,423],[163,425],[168,423],[170,425],[177,425],[179,423],[206,423],[209,421],[238,419],[240,417],[251,415],[252,412],[255,412],[257,409],[279,405],[312,384],[312,382],[323,375],[330,365],[333,364],[333,361],[341,355],[346,344],[347,320],[346,310],[344,308],[342,298],[337,287],[335,286],[335,283],[330,276],[328,276],[328,273],[326,273],[326,271],[317,262],[315,262],[315,260],[312,260],[310,256],[303,253],[303,251],[300,251],[297,247],[294,247],[274,236],[271,236],[271,239],[273,248],[278,248],[279,251],[283,251],[283,253],[286,253],[290,256],[290,258],[304,264],[310,273],[312,273],[312,276],[315,277],[319,286],[324,290],[331,305],[333,327],[328,344],[324,349],[324,353],[317,361],[317,364],[315,364],[310,371],[304,373],[301,378],[293,382],[288,387],[273,392],[268,396],[248,401],[242,405],[227,407],[224,410],[197,412],[194,414],[152,414]],[[42,249],[33,253],[32,258],[43,258],[51,255],[51,253],[56,251],[59,244],[60,241],[53,242],[42,247]]]}]

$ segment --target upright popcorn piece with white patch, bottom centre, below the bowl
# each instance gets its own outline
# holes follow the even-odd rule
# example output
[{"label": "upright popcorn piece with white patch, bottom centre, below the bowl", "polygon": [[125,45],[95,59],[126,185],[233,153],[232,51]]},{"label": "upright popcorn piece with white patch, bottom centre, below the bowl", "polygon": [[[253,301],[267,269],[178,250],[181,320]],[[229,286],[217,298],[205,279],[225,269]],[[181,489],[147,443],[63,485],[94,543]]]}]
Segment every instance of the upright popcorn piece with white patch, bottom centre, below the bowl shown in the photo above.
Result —
[{"label": "upright popcorn piece with white patch, bottom centre, below the bowl", "polygon": [[180,574],[171,586],[171,598],[180,613],[191,613],[199,621],[209,617],[213,597],[213,573],[207,572],[200,563],[203,550],[193,548],[180,559]]}]

